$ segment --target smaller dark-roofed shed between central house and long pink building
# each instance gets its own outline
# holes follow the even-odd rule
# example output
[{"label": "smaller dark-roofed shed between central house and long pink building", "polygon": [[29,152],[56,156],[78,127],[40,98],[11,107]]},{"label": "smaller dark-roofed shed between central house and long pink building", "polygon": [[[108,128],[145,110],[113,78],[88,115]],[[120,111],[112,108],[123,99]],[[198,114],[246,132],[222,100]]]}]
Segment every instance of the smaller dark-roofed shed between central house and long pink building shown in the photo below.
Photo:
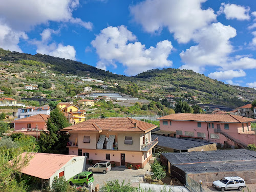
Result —
[{"label": "smaller dark-roofed shed between central house and long pink building", "polygon": [[[174,137],[157,136],[158,144],[166,152],[192,152],[192,151],[214,151],[217,150],[216,143],[180,139]],[[152,137],[154,138],[154,137]]]}]

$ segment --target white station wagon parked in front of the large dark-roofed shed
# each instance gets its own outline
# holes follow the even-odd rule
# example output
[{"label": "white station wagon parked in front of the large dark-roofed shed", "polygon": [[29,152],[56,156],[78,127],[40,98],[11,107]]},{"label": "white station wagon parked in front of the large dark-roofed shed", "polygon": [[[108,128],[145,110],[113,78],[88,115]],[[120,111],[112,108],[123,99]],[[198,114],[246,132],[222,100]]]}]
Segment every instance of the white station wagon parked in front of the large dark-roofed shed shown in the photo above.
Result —
[{"label": "white station wagon parked in front of the large dark-roofed shed", "polygon": [[241,177],[224,177],[219,181],[214,181],[212,186],[221,191],[225,191],[226,189],[242,190],[243,187],[246,187],[245,181]]}]

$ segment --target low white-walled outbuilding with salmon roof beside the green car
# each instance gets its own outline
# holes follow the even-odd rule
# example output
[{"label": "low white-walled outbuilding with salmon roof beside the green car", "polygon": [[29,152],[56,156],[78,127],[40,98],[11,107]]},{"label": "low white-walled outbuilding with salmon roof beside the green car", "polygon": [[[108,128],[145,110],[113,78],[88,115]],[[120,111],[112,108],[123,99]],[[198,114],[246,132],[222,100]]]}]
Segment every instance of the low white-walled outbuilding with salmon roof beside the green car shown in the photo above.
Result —
[{"label": "low white-walled outbuilding with salmon roof beside the green car", "polygon": [[24,152],[21,155],[22,158],[25,155],[32,158],[21,172],[46,180],[50,186],[55,176],[58,178],[64,176],[68,180],[74,175],[86,171],[86,157],[84,156]]}]

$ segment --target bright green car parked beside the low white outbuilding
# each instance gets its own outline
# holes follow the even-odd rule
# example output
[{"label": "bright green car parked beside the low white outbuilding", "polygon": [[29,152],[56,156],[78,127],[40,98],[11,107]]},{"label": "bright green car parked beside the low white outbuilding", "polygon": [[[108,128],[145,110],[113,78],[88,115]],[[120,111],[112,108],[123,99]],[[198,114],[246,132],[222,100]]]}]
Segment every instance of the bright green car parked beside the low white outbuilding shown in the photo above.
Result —
[{"label": "bright green car parked beside the low white outbuilding", "polygon": [[70,185],[83,185],[84,187],[93,181],[93,173],[91,172],[81,172],[68,180]]}]

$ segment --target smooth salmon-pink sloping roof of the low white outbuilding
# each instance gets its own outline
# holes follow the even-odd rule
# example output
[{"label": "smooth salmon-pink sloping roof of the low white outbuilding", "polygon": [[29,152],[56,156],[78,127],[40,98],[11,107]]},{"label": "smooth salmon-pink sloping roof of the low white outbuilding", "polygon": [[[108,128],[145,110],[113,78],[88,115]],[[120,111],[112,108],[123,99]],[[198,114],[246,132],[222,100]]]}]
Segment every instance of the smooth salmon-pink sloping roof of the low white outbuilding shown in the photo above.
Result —
[{"label": "smooth salmon-pink sloping roof of the low white outbuilding", "polygon": [[[22,154],[25,157],[26,152]],[[22,173],[38,177],[41,179],[50,179],[57,170],[72,160],[75,155],[60,155],[47,153],[28,153],[33,158],[29,164],[22,169]]]}]

